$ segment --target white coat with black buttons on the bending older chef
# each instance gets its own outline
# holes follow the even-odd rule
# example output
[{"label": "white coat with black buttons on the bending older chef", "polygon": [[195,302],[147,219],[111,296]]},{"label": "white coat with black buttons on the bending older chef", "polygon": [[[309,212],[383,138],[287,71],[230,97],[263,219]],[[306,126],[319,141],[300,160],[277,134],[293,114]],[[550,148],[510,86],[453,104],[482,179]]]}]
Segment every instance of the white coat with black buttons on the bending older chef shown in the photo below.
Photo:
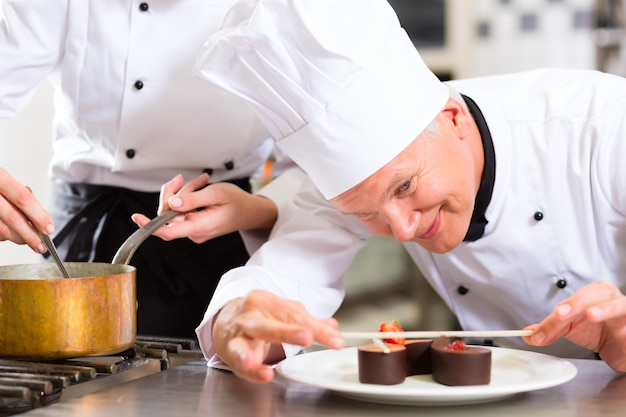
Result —
[{"label": "white coat with black buttons on the bending older chef", "polygon": [[[446,254],[405,246],[462,327],[520,329],[597,280],[626,292],[626,81],[547,69],[451,84],[477,103],[493,139],[489,223],[482,238]],[[221,280],[198,328],[207,357],[211,318],[251,289],[298,300],[317,317],[332,316],[344,295],[342,275],[368,237],[355,218],[304,187],[280,213],[270,241]],[[567,357],[592,354],[565,340],[545,348],[520,338],[495,343]]]}]

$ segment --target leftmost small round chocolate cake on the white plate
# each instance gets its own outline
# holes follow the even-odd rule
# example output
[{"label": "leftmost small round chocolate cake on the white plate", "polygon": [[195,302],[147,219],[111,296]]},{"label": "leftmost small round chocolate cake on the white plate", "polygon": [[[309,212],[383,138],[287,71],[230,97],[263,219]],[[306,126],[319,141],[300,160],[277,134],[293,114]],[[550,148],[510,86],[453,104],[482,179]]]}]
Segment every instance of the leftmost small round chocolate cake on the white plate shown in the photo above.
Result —
[{"label": "leftmost small round chocolate cake on the white plate", "polygon": [[404,382],[407,351],[402,345],[385,343],[389,353],[375,343],[359,346],[359,381],[364,384],[394,385]]}]

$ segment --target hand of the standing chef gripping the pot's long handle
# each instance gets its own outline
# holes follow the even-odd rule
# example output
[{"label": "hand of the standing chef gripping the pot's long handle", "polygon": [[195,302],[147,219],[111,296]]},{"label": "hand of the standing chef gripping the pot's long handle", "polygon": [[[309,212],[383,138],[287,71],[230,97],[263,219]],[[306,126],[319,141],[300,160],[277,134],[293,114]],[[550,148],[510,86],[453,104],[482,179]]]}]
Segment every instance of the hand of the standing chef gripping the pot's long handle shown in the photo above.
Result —
[{"label": "hand of the standing chef gripping the pot's long handle", "polygon": [[[218,182],[206,187],[209,176],[202,174],[183,185],[177,175],[161,187],[158,213],[171,208],[182,214],[159,228],[154,235],[163,240],[187,237],[195,243],[238,230],[271,229],[276,221],[274,202],[250,194],[234,184]],[[133,214],[140,227],[150,221],[143,214]]]}]

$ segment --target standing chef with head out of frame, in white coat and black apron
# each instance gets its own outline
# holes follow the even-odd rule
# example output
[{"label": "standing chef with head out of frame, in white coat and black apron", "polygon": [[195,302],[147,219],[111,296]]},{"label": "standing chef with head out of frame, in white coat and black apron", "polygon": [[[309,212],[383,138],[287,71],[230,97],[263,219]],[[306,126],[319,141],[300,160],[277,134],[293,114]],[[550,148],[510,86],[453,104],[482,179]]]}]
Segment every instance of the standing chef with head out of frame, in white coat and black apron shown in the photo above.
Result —
[{"label": "standing chef with head out of frame, in white coat and black apron", "polygon": [[[246,103],[192,74],[233,3],[0,2],[0,117],[18,114],[46,78],[55,105],[53,217],[0,169],[0,240],[45,251],[21,211],[55,235],[65,260],[111,262],[137,229],[131,214],[154,213],[164,182],[175,177],[176,191],[213,183],[205,226],[215,239],[149,239],[131,261],[140,334],[195,337],[219,277],[248,259],[235,231],[275,219],[272,200],[247,192],[272,153],[266,128]],[[279,202],[285,188],[273,190],[265,195]]]}]

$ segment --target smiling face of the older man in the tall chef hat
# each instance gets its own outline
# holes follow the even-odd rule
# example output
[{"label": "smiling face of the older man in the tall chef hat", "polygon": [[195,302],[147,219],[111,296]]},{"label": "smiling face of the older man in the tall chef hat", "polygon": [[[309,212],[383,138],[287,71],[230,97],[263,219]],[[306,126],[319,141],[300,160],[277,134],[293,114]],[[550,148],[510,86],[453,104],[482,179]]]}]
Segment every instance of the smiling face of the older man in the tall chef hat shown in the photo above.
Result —
[{"label": "smiling face of the older man in the tall chef hat", "polygon": [[395,159],[332,203],[374,234],[445,253],[462,242],[483,167],[482,142],[454,100],[437,116],[439,134],[422,133]]}]

